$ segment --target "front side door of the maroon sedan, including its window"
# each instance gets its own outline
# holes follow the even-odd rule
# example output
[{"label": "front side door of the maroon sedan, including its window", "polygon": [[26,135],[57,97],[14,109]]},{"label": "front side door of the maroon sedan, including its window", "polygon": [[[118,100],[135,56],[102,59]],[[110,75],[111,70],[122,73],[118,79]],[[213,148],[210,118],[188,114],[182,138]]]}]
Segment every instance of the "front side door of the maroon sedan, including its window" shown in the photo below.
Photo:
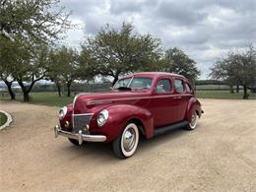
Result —
[{"label": "front side door of the maroon sedan, including its window", "polygon": [[149,109],[154,116],[156,128],[171,124],[176,119],[175,102],[173,102],[173,84],[170,78],[161,78],[155,85]]}]

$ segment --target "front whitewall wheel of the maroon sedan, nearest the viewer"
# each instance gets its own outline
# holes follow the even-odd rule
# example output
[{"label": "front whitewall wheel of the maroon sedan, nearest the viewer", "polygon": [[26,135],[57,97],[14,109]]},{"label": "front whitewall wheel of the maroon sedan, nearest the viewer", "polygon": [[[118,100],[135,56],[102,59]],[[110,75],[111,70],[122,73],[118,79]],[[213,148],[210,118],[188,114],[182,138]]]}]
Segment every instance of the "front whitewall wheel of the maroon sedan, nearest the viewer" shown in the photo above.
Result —
[{"label": "front whitewall wheel of the maroon sedan, nearest the viewer", "polygon": [[126,159],[134,155],[139,144],[139,129],[134,123],[129,123],[123,132],[113,141],[114,155]]}]

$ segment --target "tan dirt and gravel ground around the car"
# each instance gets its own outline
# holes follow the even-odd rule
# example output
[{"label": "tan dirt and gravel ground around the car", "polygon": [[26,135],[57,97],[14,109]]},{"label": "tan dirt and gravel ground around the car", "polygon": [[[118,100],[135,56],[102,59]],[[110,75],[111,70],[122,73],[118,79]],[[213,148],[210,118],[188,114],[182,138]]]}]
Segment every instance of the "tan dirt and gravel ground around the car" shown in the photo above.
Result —
[{"label": "tan dirt and gravel ground around the car", "polygon": [[57,107],[0,101],[0,191],[256,191],[256,101],[202,99],[194,131],[141,140],[128,160],[111,145],[54,139]]}]

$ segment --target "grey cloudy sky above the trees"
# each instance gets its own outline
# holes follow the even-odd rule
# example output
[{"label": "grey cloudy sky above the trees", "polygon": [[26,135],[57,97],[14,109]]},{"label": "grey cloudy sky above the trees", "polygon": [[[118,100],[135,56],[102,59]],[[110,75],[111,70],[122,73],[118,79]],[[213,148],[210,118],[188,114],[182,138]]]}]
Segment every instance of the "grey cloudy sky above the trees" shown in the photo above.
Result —
[{"label": "grey cloudy sky above the trees", "polygon": [[159,37],[164,48],[185,51],[198,63],[201,79],[230,48],[256,46],[256,0],[62,0],[61,5],[80,24],[65,43],[79,47],[105,24],[131,23],[136,32]]}]

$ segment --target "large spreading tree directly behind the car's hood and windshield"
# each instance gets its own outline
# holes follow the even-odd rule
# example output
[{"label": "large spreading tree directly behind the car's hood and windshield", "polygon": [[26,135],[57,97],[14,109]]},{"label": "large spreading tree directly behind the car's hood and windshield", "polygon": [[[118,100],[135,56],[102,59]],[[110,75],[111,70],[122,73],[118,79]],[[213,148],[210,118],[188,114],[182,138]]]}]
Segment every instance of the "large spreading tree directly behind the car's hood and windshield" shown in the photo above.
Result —
[{"label": "large spreading tree directly behind the car's hood and windshield", "polygon": [[82,50],[90,51],[96,61],[95,71],[113,78],[138,70],[149,70],[160,56],[160,40],[151,34],[133,32],[133,26],[123,24],[120,30],[108,25],[95,37],[89,37]]}]

